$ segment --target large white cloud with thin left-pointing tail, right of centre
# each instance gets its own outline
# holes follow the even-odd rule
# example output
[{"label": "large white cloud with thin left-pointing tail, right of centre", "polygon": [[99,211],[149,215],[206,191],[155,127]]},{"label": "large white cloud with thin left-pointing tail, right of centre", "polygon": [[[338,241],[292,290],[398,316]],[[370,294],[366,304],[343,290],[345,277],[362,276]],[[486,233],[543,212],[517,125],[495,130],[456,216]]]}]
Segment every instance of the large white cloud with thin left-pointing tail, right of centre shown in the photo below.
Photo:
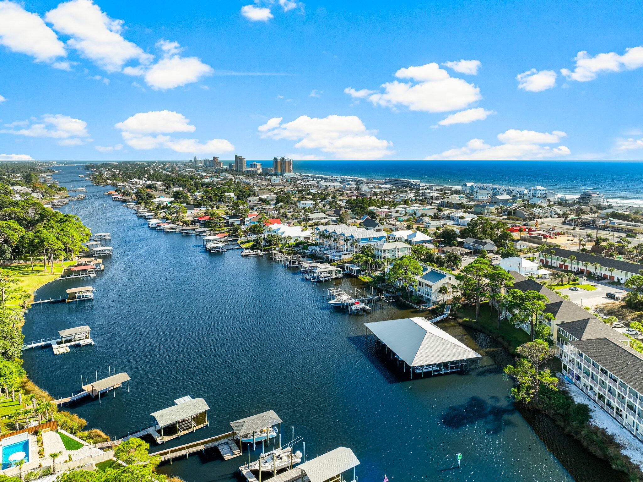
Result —
[{"label": "large white cloud with thin left-pointing tail, right of centre", "polygon": [[406,106],[412,111],[448,112],[464,109],[482,98],[480,89],[465,80],[451,77],[438,64],[401,68],[395,72],[398,79],[413,82],[386,82],[384,91],[367,93],[366,89],[345,89],[351,97],[366,98],[375,106],[396,108]]}]

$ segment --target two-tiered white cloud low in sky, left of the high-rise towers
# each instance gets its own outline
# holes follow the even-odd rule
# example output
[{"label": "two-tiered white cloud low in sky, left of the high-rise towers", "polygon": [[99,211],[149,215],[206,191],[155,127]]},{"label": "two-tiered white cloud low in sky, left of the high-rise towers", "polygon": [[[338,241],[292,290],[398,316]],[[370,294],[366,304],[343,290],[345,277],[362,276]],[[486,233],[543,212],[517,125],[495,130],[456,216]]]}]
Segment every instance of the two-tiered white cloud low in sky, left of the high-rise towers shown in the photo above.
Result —
[{"label": "two-tiered white cloud low in sky, left of the high-rise towers", "polygon": [[167,136],[170,133],[194,132],[196,127],[184,115],[174,111],[150,111],[135,114],[114,127],[120,129],[125,144],[133,149],[172,149],[177,153],[217,154],[234,151],[234,146],[225,139],[199,142]]}]

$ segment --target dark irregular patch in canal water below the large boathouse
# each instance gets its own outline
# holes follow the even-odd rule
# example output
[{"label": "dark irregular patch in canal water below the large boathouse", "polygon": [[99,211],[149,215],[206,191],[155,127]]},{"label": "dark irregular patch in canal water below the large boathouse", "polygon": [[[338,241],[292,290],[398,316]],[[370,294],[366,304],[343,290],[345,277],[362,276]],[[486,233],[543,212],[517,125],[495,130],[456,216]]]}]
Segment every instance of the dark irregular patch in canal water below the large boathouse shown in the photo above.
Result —
[{"label": "dark irregular patch in canal water below the large boathouse", "polygon": [[482,423],[487,434],[498,434],[512,422],[507,417],[516,412],[513,403],[500,405],[500,398],[492,396],[483,400],[479,396],[472,396],[467,402],[460,405],[451,405],[440,417],[440,422],[450,429],[461,429],[465,425]]}]

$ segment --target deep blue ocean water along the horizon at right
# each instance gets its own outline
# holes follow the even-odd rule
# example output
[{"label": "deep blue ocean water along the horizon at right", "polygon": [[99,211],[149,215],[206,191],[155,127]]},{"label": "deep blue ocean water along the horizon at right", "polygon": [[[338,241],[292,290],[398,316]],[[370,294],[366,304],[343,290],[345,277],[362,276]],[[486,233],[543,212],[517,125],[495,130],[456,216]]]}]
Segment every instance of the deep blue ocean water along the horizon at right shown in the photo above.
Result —
[{"label": "deep blue ocean water along the horizon at right", "polygon": [[426,183],[541,185],[559,194],[597,190],[608,199],[643,202],[643,162],[293,161],[293,170],[326,176],[406,178]]}]

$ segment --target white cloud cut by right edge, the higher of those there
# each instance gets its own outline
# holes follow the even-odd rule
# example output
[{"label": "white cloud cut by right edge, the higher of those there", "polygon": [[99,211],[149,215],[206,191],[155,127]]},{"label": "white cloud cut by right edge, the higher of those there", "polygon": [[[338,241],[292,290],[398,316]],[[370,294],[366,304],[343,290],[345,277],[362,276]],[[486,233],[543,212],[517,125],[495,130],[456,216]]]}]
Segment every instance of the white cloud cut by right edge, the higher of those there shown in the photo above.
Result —
[{"label": "white cloud cut by right edge, the higher of those there", "polygon": [[568,80],[587,82],[596,79],[599,73],[620,72],[643,67],[643,46],[626,48],[622,55],[615,52],[599,53],[593,57],[586,51],[579,52],[574,70],[561,69]]}]

